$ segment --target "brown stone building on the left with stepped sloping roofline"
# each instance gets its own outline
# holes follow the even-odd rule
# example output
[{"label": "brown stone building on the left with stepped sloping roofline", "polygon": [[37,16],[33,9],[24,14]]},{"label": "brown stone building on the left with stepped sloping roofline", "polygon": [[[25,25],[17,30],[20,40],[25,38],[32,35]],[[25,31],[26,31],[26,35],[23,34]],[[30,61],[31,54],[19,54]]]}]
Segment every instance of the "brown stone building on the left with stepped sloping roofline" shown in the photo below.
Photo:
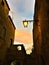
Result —
[{"label": "brown stone building on the left with stepped sloping roofline", "polygon": [[9,6],[6,0],[0,0],[0,65],[5,61],[6,51],[14,41],[15,26],[8,16]]}]

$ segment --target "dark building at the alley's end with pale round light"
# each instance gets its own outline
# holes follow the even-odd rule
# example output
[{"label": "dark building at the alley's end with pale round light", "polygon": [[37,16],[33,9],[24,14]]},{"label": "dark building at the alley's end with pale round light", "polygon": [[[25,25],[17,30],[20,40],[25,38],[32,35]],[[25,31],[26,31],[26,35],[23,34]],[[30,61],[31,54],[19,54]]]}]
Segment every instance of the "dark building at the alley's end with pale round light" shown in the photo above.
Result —
[{"label": "dark building at the alley's end with pale round light", "polygon": [[12,45],[7,51],[5,65],[35,65],[34,51],[28,55],[22,44]]}]

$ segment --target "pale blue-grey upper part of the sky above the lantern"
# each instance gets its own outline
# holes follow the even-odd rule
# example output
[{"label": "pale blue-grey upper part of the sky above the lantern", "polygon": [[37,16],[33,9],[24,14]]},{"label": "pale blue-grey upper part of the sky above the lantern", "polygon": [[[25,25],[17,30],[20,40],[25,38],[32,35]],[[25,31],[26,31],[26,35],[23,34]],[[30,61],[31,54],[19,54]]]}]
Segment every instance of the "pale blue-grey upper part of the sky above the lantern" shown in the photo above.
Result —
[{"label": "pale blue-grey upper part of the sky above the lantern", "polygon": [[10,6],[10,13],[16,21],[33,19],[35,0],[7,0]]}]

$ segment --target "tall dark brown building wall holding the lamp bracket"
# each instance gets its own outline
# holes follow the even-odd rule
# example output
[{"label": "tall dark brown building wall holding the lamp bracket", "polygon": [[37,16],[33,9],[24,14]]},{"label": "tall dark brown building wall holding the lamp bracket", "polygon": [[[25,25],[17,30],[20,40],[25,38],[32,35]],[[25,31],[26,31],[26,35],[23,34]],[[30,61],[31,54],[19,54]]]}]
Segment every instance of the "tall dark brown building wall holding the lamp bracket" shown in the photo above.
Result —
[{"label": "tall dark brown building wall holding the lamp bracket", "polygon": [[36,65],[49,65],[49,0],[35,0],[34,50]]}]

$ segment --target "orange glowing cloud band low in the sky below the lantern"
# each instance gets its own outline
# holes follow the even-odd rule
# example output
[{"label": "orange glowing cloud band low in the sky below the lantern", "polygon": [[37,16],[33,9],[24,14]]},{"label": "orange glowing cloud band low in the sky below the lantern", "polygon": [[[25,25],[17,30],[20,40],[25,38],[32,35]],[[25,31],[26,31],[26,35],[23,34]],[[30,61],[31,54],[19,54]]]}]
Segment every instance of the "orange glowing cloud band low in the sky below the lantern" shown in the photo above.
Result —
[{"label": "orange glowing cloud band low in the sky below the lantern", "polygon": [[15,30],[15,39],[14,41],[20,42],[20,43],[26,43],[30,44],[32,43],[32,35],[30,32],[25,30]]}]

